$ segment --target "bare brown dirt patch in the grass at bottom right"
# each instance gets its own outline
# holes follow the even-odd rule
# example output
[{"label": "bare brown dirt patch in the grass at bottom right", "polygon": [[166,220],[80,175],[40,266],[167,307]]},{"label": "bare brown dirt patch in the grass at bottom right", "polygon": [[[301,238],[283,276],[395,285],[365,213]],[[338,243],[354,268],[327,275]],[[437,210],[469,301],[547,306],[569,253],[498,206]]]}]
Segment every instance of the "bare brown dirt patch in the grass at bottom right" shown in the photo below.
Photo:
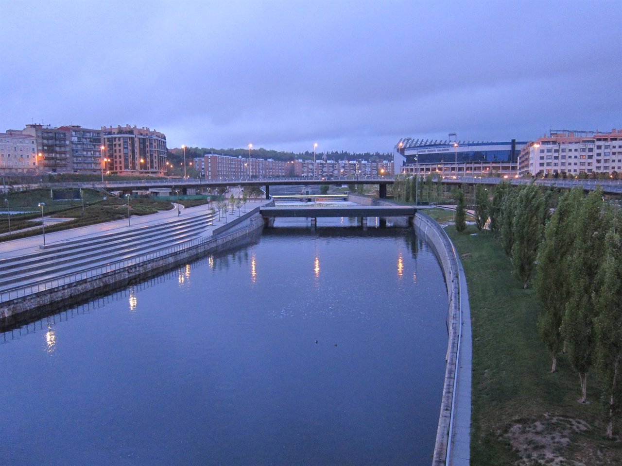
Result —
[{"label": "bare brown dirt patch in the grass at bottom right", "polygon": [[516,466],[588,466],[569,458],[569,446],[575,434],[589,429],[590,425],[582,419],[544,414],[542,419],[524,419],[512,424],[504,437],[521,457]]}]

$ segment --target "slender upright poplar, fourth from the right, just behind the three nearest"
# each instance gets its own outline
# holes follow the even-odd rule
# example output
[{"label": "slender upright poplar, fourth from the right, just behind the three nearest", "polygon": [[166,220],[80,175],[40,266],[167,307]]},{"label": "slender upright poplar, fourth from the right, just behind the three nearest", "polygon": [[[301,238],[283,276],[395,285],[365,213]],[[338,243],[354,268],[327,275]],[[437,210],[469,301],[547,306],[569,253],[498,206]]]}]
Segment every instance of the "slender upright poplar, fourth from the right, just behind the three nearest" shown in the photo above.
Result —
[{"label": "slender upright poplar, fourth from the right, just behind the three nearest", "polygon": [[544,196],[536,185],[522,189],[514,203],[512,267],[526,289],[533,275],[538,246],[542,240]]}]

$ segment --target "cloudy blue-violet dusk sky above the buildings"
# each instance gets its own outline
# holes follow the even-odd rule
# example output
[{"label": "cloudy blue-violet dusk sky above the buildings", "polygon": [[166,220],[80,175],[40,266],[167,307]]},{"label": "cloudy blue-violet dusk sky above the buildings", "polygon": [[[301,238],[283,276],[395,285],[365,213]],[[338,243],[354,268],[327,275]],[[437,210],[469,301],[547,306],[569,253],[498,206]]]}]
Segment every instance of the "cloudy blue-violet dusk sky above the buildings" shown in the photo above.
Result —
[{"label": "cloudy blue-violet dusk sky above the buildings", "polygon": [[0,130],[391,152],[622,128],[622,2],[0,0]]}]

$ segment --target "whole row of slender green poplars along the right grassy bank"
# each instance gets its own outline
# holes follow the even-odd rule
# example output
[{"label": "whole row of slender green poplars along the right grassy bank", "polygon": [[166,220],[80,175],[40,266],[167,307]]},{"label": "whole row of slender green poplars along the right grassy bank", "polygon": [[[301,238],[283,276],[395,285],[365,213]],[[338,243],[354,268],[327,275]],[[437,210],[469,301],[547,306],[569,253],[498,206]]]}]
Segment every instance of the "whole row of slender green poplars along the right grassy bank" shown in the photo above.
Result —
[{"label": "whole row of slender green poplars along the right grassy bank", "polygon": [[600,190],[587,195],[580,189],[565,191],[555,209],[554,192],[543,193],[536,185],[501,183],[492,199],[483,190],[477,188],[475,195],[477,226],[484,228],[483,219],[490,222],[516,278],[524,288],[534,285],[542,304],[538,332],[552,358],[552,372],[557,356],[567,352],[585,403],[588,372],[600,371],[611,438],[613,421],[622,413],[620,209],[606,202]]}]

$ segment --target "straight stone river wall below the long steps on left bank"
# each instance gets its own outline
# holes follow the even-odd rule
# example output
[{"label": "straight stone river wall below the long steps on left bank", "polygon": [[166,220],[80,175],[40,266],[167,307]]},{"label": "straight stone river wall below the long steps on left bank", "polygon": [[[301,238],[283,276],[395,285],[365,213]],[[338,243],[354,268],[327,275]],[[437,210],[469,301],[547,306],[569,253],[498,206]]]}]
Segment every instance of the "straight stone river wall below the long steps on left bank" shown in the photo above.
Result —
[{"label": "straight stone river wall below the long steps on left bank", "polygon": [[230,249],[259,237],[263,227],[263,218],[259,214],[259,208],[256,208],[215,229],[209,237],[178,245],[160,255],[154,255],[151,259],[102,273],[85,273],[85,278],[67,283],[57,280],[56,286],[0,304],[0,326],[14,326],[19,322],[29,321],[80,301],[111,293],[205,254]]}]

